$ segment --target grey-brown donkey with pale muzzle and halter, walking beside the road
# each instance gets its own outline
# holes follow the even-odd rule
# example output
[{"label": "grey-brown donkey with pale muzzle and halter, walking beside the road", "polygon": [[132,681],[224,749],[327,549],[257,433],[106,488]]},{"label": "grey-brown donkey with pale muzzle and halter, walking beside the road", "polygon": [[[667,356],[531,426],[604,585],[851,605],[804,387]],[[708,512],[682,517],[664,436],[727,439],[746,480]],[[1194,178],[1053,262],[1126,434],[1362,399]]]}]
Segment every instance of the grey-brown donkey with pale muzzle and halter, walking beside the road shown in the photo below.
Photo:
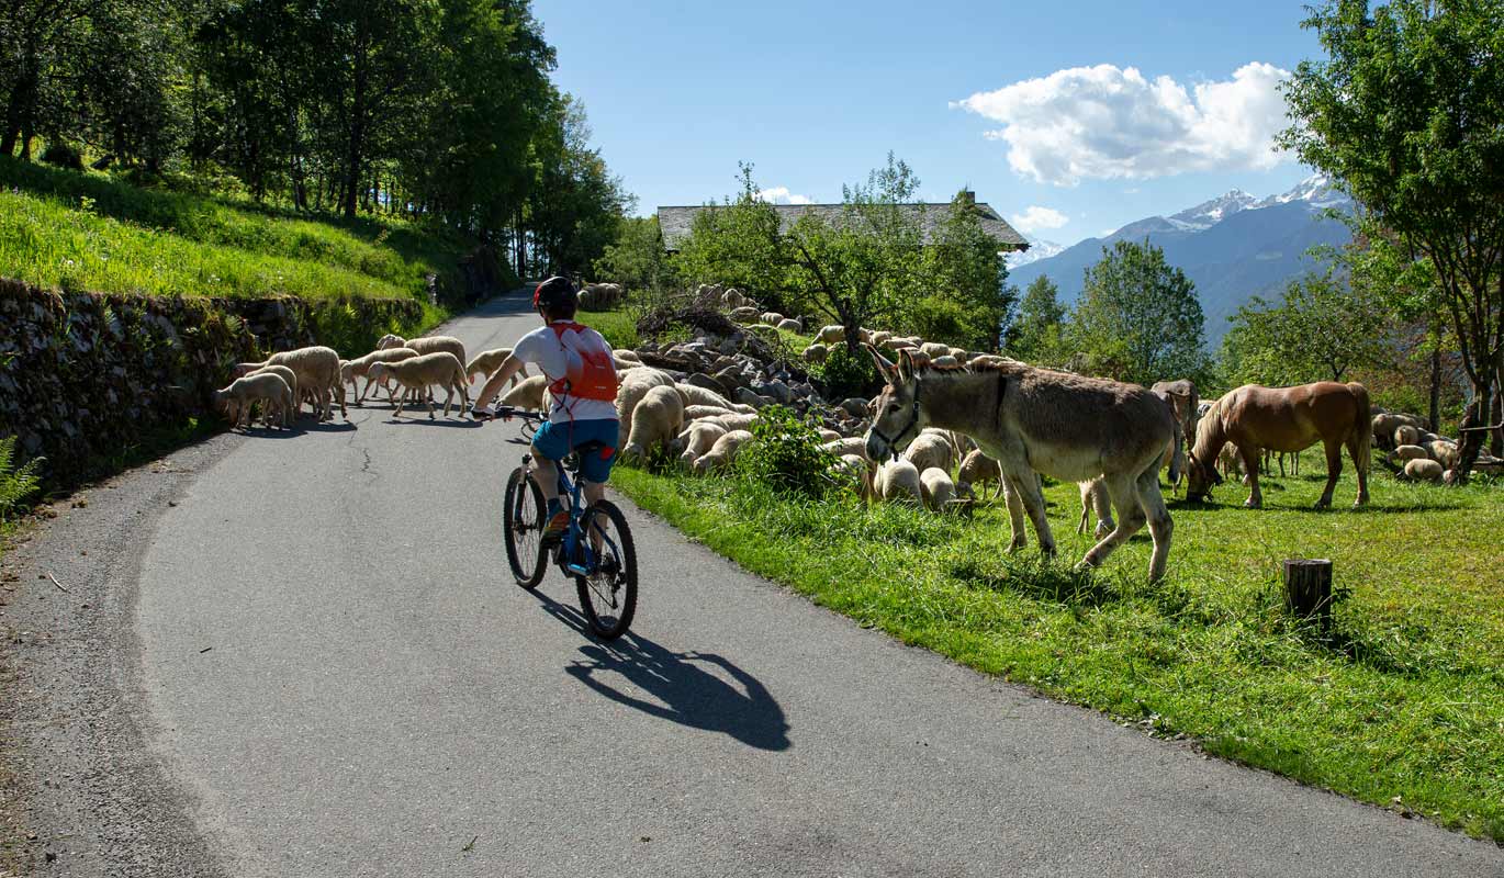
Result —
[{"label": "grey-brown donkey with pale muzzle and halter, walking beside the road", "polygon": [[916,367],[908,350],[898,365],[866,346],[887,380],[866,431],[871,460],[898,454],[925,427],[955,430],[997,460],[1014,526],[1009,550],[1023,546],[1027,510],[1039,549],[1054,553],[1036,472],[1062,481],[1102,477],[1117,526],[1081,565],[1096,567],[1145,523],[1154,535],[1149,579],[1164,576],[1173,523],[1160,495],[1160,462],[1175,442],[1170,407],[1139,385],[1084,377],[1000,356],[964,367]]}]

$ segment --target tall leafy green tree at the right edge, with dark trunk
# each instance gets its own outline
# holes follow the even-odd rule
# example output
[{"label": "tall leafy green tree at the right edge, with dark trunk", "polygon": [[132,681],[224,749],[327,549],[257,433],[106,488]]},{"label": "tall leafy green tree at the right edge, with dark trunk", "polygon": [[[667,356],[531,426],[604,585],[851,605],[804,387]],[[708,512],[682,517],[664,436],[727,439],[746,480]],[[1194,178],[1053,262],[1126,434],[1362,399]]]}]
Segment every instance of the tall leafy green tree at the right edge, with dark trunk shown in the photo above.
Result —
[{"label": "tall leafy green tree at the right edge, with dark trunk", "polygon": [[1305,27],[1328,57],[1287,83],[1283,143],[1435,268],[1474,397],[1465,481],[1504,371],[1504,3],[1336,0]]}]

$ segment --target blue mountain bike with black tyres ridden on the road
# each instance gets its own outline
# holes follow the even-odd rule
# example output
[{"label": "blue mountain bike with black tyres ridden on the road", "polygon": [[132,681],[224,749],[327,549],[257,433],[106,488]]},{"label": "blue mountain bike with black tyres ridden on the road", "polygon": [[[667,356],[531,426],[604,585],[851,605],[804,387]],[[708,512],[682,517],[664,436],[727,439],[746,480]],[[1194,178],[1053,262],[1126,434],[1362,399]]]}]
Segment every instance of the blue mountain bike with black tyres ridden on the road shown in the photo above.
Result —
[{"label": "blue mountain bike with black tyres ridden on the road", "polygon": [[[543,422],[543,415],[511,406],[499,406],[495,416],[519,418],[532,430]],[[528,445],[529,441],[508,442]],[[535,589],[543,582],[544,564],[552,559],[559,573],[575,579],[579,606],[591,631],[603,640],[614,640],[632,625],[638,607],[638,553],[627,519],[617,504],[600,499],[584,507],[579,456],[599,454],[603,448],[600,442],[587,442],[559,462],[559,498],[569,498],[570,520],[564,538],[550,552],[543,549],[543,528],[547,525],[543,489],[534,478],[532,454],[523,454],[522,466],[507,477],[502,532],[507,564],[517,585]]]}]

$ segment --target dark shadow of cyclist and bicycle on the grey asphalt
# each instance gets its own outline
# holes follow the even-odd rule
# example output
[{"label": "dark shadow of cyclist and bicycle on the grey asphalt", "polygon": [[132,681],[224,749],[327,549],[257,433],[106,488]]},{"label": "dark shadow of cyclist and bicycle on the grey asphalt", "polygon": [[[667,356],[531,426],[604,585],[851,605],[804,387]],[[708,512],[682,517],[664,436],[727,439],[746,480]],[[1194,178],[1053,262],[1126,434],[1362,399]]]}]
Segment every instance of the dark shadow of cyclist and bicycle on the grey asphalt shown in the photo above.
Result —
[{"label": "dark shadow of cyclist and bicycle on the grey asphalt", "polygon": [[[550,613],[585,630],[579,613],[544,601]],[[723,732],[760,750],[791,746],[784,708],[758,678],[720,655],[674,652],[635,631],[609,643],[587,643],[579,651],[582,658],[564,671],[611,701],[693,729]],[[608,681],[612,675],[650,698],[612,687]]]}]

